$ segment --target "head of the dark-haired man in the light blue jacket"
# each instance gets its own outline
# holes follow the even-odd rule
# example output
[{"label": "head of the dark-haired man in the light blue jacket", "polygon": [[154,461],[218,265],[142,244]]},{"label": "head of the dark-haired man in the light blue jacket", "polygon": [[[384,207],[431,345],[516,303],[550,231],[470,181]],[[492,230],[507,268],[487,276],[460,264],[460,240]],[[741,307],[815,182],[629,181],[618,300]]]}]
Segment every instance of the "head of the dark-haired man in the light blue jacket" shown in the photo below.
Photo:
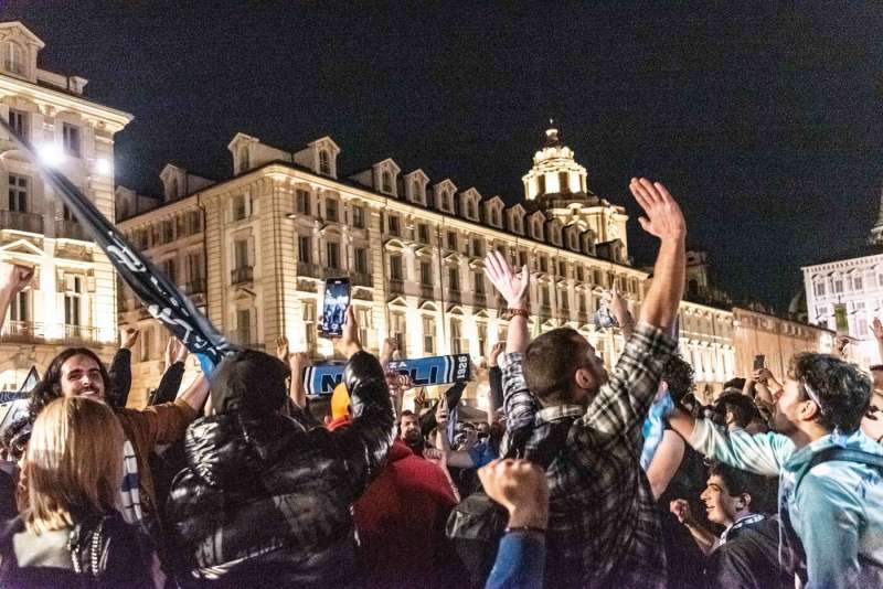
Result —
[{"label": "head of the dark-haired man in the light blue jacket", "polygon": [[852,433],[871,403],[871,379],[858,366],[828,354],[797,354],[776,398],[773,427],[811,438],[834,429]]}]

